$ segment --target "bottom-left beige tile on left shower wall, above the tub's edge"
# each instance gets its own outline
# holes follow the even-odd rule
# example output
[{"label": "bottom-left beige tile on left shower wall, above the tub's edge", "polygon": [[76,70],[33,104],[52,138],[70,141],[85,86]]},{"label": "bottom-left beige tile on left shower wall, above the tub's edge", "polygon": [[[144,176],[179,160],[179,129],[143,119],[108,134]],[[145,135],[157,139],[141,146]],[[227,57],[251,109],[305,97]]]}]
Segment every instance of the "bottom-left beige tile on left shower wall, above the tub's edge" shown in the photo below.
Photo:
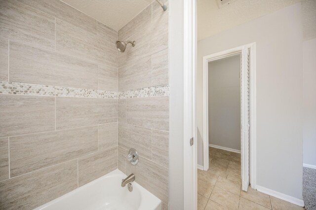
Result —
[{"label": "bottom-left beige tile on left shower wall, above the tub's edge", "polygon": [[78,186],[77,160],[0,182],[0,209],[34,209]]}]

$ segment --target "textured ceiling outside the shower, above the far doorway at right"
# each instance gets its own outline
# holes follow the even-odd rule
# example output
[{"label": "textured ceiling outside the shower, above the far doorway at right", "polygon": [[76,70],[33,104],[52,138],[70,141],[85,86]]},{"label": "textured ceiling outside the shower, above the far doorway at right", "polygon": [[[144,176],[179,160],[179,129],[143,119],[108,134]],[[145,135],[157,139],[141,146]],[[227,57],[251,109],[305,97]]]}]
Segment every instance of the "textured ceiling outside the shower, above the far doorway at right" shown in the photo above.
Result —
[{"label": "textured ceiling outside the shower, above the far doorway at right", "polygon": [[236,0],[221,9],[216,0],[197,0],[197,39],[226,31],[301,1],[303,23],[309,26],[304,29],[304,39],[310,39],[316,33],[316,0]]}]

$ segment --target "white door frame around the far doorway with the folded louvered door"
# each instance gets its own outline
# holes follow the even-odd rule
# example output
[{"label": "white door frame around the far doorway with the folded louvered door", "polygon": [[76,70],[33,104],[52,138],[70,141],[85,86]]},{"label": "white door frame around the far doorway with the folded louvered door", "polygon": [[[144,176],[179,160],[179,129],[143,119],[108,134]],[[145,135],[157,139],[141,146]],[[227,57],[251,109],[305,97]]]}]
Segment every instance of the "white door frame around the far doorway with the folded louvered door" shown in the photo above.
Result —
[{"label": "white door frame around the far doorway with the folded louvered door", "polygon": [[[256,43],[250,43],[238,46],[232,49],[224,50],[211,55],[203,56],[203,170],[208,170],[208,63],[210,61],[219,60],[229,56],[241,53],[243,48],[250,50],[250,184],[251,188],[256,189]],[[248,158],[248,157],[246,157]],[[244,159],[242,160],[244,161]],[[244,180],[244,177],[242,177]]]}]

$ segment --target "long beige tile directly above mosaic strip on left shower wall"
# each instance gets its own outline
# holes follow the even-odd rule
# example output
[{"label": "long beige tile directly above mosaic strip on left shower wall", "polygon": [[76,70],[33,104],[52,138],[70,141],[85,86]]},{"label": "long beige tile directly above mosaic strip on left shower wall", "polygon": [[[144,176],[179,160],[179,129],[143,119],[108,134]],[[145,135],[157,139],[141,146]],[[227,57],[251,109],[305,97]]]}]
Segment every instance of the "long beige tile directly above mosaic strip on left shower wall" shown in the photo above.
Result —
[{"label": "long beige tile directly above mosaic strip on left shower wall", "polygon": [[10,41],[10,81],[98,89],[98,66]]}]

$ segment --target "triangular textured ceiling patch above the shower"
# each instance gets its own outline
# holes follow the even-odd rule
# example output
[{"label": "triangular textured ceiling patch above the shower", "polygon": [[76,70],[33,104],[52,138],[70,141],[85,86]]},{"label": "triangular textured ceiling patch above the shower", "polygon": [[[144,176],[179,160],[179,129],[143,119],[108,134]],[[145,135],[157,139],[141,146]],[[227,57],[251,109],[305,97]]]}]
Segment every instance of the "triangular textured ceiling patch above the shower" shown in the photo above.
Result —
[{"label": "triangular textured ceiling patch above the shower", "polygon": [[62,1],[117,31],[153,2],[153,0]]}]

